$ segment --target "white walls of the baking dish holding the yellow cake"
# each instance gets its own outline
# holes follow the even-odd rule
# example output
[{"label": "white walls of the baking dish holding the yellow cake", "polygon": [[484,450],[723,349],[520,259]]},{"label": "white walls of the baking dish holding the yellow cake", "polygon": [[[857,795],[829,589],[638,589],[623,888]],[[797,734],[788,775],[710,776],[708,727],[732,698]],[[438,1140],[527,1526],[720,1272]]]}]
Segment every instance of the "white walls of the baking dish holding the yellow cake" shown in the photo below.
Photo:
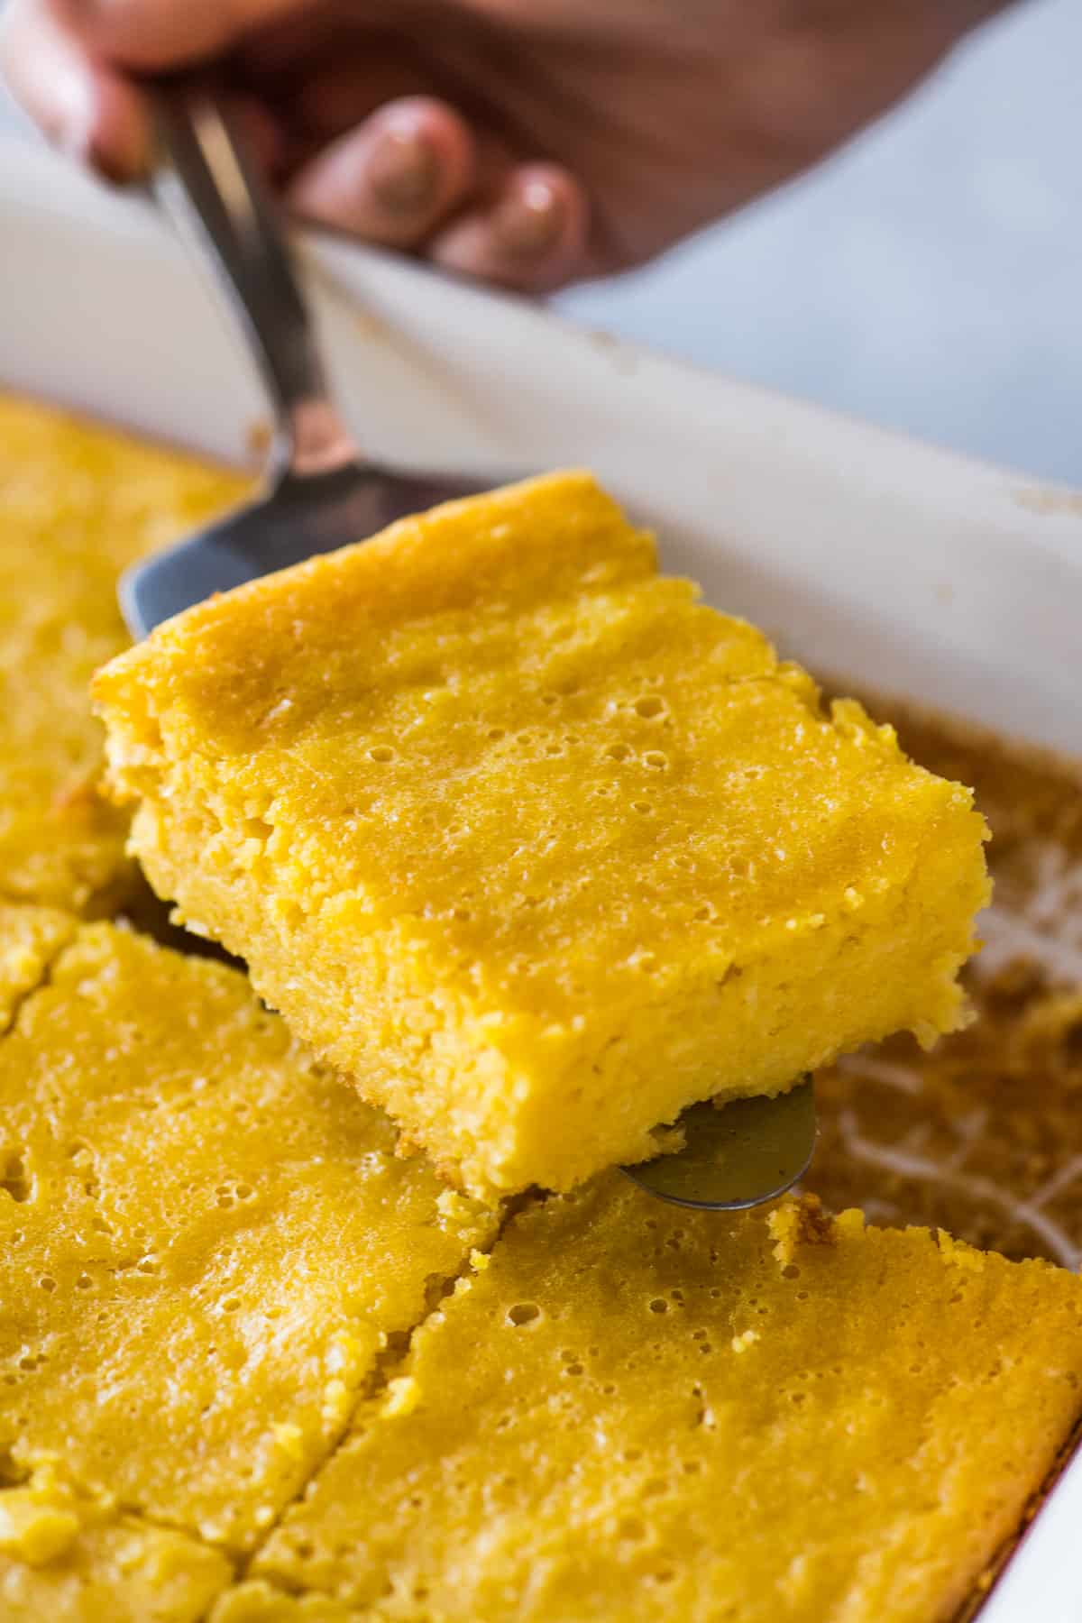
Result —
[{"label": "white walls of the baking dish holding the yellow cake", "polygon": [[[342,401],[388,459],[587,464],[813,669],[1082,756],[1082,497],[310,243]],[[0,385],[225,458],[251,370],[141,204],[0,138]],[[981,1623],[1082,1620],[1082,1456]]]}]

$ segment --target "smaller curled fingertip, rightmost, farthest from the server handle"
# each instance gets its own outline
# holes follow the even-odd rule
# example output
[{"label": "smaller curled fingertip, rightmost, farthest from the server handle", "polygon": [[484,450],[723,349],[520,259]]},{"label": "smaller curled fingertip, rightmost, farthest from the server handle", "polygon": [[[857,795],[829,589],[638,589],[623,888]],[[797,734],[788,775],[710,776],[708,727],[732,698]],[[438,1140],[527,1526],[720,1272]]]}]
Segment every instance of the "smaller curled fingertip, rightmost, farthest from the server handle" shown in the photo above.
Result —
[{"label": "smaller curled fingertip, rightmost, farthest from the server handle", "polygon": [[519,292],[552,292],[586,269],[586,192],[556,164],[521,164],[487,204],[428,243],[435,265]]}]

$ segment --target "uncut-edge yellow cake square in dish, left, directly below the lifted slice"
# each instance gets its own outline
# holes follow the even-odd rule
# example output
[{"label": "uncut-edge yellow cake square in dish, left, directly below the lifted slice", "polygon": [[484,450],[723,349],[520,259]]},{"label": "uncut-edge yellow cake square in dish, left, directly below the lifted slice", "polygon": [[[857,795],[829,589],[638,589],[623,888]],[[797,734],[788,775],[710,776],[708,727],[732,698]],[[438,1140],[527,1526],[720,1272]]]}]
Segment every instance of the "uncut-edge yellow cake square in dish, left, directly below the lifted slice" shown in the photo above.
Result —
[{"label": "uncut-edge yellow cake square in dish, left, directly below the lifted slice", "polygon": [[237,971],[81,927],[0,1039],[16,1479],[250,1547],[490,1235],[393,1139]]}]

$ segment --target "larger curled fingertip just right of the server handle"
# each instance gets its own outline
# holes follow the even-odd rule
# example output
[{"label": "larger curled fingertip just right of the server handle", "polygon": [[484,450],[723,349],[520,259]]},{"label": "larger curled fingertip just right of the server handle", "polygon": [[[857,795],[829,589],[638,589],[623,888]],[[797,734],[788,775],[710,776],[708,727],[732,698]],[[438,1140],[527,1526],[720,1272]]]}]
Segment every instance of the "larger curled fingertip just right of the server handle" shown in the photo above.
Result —
[{"label": "larger curled fingertip just right of the server handle", "polygon": [[307,219],[389,248],[415,248],[474,185],[474,140],[430,96],[407,96],[331,141],[294,177]]}]

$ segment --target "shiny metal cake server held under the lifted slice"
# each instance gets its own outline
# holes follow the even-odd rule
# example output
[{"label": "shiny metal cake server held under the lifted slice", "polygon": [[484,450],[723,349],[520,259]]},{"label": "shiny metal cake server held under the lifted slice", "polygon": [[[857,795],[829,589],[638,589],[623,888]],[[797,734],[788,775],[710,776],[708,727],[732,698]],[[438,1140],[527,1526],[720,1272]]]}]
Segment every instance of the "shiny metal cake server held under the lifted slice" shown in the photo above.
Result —
[{"label": "shiny metal cake server held under the lifted slice", "polygon": [[[120,607],[133,636],[213,592],[373,536],[399,518],[487,489],[367,461],[331,399],[315,328],[274,206],[227,104],[188,75],[149,86],[164,164],[154,195],[198,250],[247,334],[271,404],[266,490],[216,524],[128,570]],[[814,1147],[811,1081],[779,1099],[693,1105],[685,1147],[625,1167],[642,1190],[683,1206],[772,1199]]]}]

